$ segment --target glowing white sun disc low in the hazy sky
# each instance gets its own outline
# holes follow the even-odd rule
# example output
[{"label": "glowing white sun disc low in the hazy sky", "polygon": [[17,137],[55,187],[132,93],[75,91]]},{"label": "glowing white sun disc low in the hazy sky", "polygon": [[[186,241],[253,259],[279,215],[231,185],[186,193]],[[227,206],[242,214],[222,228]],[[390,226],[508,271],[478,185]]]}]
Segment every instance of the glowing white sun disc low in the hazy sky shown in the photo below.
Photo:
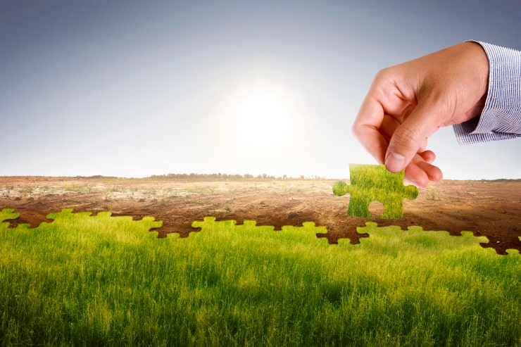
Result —
[{"label": "glowing white sun disc low in the hazy sky", "polygon": [[235,113],[237,138],[249,150],[272,151],[284,146],[290,123],[289,106],[274,95],[246,97]]}]

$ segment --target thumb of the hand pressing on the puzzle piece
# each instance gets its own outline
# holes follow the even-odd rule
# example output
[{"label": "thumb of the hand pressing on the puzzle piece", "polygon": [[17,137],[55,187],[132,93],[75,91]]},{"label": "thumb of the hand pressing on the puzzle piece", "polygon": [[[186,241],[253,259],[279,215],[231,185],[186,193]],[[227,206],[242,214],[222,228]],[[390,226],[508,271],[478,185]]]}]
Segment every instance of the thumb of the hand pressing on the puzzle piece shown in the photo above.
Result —
[{"label": "thumb of the hand pressing on the puzzle piece", "polygon": [[385,153],[385,167],[390,172],[400,172],[418,153],[425,139],[434,133],[441,123],[436,112],[439,108],[432,103],[418,103],[418,106],[410,113],[408,118],[399,125],[389,141],[387,153]]}]

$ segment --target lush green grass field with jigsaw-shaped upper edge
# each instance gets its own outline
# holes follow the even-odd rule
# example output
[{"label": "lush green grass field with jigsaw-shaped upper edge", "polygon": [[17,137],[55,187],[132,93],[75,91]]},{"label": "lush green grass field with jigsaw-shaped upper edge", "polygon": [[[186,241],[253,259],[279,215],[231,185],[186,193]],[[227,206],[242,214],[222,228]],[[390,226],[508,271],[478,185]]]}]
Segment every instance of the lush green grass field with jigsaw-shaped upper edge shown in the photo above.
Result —
[{"label": "lush green grass field with jigsaw-shaped upper edge", "polygon": [[[2,346],[521,346],[521,256],[368,223],[236,225],[157,239],[146,217],[0,212]],[[194,229],[195,230],[195,229]]]}]

